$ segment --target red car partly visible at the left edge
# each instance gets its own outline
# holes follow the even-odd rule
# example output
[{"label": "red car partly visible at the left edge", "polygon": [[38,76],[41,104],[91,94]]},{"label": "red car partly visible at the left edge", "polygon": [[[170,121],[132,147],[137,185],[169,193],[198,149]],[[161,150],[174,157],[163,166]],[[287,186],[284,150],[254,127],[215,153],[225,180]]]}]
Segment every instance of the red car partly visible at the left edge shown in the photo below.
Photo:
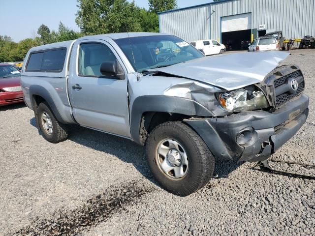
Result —
[{"label": "red car partly visible at the left edge", "polygon": [[24,102],[20,78],[19,70],[0,63],[0,106]]}]

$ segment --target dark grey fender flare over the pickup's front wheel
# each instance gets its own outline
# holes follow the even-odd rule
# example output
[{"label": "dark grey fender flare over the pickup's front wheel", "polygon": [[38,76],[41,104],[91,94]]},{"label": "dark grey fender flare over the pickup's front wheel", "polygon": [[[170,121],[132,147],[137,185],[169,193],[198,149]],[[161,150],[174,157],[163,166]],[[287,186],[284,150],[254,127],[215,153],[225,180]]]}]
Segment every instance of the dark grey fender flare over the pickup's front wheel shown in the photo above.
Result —
[{"label": "dark grey fender flare over the pickup's front wheel", "polygon": [[188,98],[148,95],[137,97],[131,107],[130,132],[132,140],[142,145],[140,125],[145,112],[176,113],[186,116],[211,117],[213,113],[207,108]]}]

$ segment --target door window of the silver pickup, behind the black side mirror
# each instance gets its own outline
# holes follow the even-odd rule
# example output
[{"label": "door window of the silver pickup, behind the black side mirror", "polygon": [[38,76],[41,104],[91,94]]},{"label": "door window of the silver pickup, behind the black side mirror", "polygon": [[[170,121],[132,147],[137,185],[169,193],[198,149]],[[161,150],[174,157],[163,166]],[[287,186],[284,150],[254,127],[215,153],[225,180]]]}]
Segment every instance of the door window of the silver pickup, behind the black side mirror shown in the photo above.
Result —
[{"label": "door window of the silver pickup, behind the black side mirror", "polygon": [[100,73],[100,65],[103,62],[117,59],[112,50],[101,43],[83,43],[79,51],[79,75],[103,76]]}]

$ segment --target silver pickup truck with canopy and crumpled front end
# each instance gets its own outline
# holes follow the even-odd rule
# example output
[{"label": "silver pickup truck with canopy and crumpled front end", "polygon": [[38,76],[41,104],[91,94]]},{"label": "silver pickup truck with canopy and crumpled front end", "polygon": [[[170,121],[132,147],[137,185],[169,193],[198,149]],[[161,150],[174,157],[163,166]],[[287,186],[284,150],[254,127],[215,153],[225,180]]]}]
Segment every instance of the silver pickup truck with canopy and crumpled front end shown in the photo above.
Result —
[{"label": "silver pickup truck with canopy and crumpled front end", "polygon": [[32,48],[21,84],[43,137],[68,124],[147,148],[154,177],[181,196],[213,176],[215,157],[269,158],[305,123],[309,98],[285,52],[205,57],[160,33],[114,33]]}]

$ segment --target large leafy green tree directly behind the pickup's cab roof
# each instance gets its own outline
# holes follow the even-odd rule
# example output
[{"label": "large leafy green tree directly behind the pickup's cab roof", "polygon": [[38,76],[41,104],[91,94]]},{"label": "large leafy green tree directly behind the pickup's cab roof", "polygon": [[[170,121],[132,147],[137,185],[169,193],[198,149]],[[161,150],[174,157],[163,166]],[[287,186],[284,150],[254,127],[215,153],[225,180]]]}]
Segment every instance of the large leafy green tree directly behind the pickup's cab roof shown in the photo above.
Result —
[{"label": "large leafy green tree directly behind the pickup's cab roof", "polygon": [[75,22],[85,34],[141,31],[140,8],[127,0],[77,0]]}]

